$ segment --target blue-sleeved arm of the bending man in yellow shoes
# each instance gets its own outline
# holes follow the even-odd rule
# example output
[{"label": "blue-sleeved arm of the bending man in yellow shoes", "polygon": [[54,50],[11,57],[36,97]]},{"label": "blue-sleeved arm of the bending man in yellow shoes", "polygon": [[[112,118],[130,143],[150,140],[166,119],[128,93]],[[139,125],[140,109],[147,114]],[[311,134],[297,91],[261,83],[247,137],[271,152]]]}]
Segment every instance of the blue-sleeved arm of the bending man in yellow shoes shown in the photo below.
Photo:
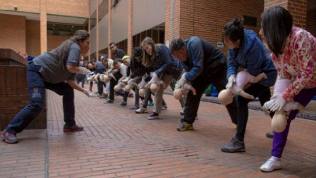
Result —
[{"label": "blue-sleeved arm of the bending man in yellow shoes", "polygon": [[191,53],[193,68],[186,74],[186,80],[193,81],[203,72],[204,49],[202,41],[194,37],[187,45],[187,50]]}]

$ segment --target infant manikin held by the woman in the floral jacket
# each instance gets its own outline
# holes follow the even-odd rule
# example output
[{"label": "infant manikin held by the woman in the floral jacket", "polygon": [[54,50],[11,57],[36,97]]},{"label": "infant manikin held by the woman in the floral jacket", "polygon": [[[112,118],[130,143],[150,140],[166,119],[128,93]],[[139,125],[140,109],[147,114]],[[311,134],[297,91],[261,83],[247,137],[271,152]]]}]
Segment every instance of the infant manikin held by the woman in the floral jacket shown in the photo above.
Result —
[{"label": "infant manikin held by the woman in the floral jacket", "polygon": [[[293,82],[293,80],[289,80],[289,79],[279,79],[276,81],[275,87],[274,87],[274,92],[273,94],[282,94],[282,92]],[[274,103],[275,99],[272,99],[268,102],[266,102],[263,107],[262,110],[265,112],[265,114],[269,114],[268,113],[268,108]],[[288,119],[288,115],[290,113],[291,110],[296,110],[298,109],[300,113],[303,112],[304,110],[304,106],[298,102],[294,102],[293,98],[287,102],[281,110],[276,111],[275,115],[272,118],[271,121],[271,127],[272,129],[279,133],[279,132],[283,132],[286,124],[287,124],[287,119]]]}]

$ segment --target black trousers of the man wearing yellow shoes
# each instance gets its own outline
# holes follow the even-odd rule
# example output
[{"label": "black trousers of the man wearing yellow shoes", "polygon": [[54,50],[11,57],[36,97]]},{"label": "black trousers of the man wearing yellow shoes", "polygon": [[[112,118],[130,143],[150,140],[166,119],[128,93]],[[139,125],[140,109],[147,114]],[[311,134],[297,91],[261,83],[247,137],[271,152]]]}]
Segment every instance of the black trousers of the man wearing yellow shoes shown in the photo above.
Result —
[{"label": "black trousers of the man wearing yellow shoes", "polygon": [[[193,95],[190,90],[187,95],[187,100],[185,103],[184,117],[181,119],[181,122],[187,122],[193,124],[197,117],[197,110],[202,94],[205,89],[210,84],[214,84],[218,91],[226,89],[227,79],[226,79],[226,64],[223,64],[218,68],[218,70],[209,76],[198,76],[192,83],[192,87],[196,89],[197,95]],[[233,100],[233,103],[226,106],[231,120],[233,123],[237,123],[237,104]]]}]

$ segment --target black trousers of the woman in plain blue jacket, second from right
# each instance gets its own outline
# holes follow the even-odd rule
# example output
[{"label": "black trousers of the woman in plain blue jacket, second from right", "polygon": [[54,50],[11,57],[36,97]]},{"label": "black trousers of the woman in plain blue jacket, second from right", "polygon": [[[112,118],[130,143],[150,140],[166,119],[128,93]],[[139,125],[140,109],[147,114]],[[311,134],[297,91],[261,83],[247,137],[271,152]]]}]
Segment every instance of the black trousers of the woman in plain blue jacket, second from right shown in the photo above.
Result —
[{"label": "black trousers of the woman in plain blue jacket, second from right", "polygon": [[[263,105],[265,102],[269,101],[271,98],[270,87],[265,87],[261,84],[252,84],[249,88],[244,90],[246,93],[253,95],[255,98],[258,97],[260,104]],[[248,121],[248,103],[252,101],[252,99],[247,99],[242,96],[237,96],[237,133],[236,138],[240,141],[243,141],[247,121]],[[272,118],[274,112],[270,113],[270,117]]]}]

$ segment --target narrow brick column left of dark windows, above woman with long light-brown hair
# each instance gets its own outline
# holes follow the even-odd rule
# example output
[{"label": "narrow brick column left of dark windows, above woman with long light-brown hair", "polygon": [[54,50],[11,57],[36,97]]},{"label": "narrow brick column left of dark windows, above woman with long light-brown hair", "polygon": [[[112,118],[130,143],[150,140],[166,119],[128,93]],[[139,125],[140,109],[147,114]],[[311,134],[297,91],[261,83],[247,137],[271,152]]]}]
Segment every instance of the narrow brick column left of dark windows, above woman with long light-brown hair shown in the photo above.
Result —
[{"label": "narrow brick column left of dark windows, above woman with long light-brown hair", "polygon": [[133,48],[133,1],[127,1],[127,55],[132,56]]}]

